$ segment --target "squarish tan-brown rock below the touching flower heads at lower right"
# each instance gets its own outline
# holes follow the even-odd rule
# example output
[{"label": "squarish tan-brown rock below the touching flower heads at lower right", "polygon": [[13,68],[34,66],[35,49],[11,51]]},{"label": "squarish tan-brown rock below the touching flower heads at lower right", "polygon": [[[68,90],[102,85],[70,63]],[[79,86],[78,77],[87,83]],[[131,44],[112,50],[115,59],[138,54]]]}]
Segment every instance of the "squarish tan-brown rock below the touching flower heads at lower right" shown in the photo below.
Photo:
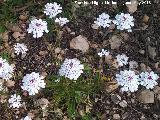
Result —
[{"label": "squarish tan-brown rock below the touching flower heads at lower right", "polygon": [[147,104],[154,103],[154,92],[150,90],[143,90],[137,95],[139,102]]}]

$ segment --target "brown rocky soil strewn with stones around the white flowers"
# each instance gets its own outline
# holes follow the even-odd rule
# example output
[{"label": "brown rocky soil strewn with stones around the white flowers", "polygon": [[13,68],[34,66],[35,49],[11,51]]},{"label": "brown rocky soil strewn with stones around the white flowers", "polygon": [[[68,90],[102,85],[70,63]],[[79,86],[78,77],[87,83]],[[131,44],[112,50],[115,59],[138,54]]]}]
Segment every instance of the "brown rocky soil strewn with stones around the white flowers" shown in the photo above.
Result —
[{"label": "brown rocky soil strewn with stones around the white flowers", "polygon": [[[43,2],[42,2],[43,3]],[[28,17],[27,9],[19,9],[18,22],[15,25],[7,25],[7,32],[0,34],[4,44],[0,52],[7,51],[12,63],[16,66],[17,82],[7,86],[8,93],[20,92],[21,77],[31,71],[39,71],[43,75],[57,74],[59,61],[64,58],[78,58],[87,63],[95,71],[100,71],[101,90],[88,96],[90,104],[80,104],[76,109],[78,116],[75,119],[82,119],[83,110],[89,117],[84,120],[159,120],[160,119],[160,87],[147,90],[140,86],[137,92],[121,92],[115,81],[115,74],[121,69],[113,62],[114,56],[125,53],[130,60],[138,63],[135,71],[153,70],[160,74],[160,3],[154,0],[152,4],[136,6],[124,6],[124,2],[117,5],[81,6],[74,10],[74,19],[57,30],[56,34],[45,35],[42,38],[33,39],[27,34]],[[64,5],[65,6],[65,5]],[[135,18],[135,26],[132,32],[116,31],[115,26],[109,29],[100,29],[94,21],[96,17],[106,12],[113,18],[118,12],[130,12]],[[43,16],[43,15],[42,15]],[[41,17],[41,16],[40,16]],[[16,42],[25,43],[29,52],[25,56],[16,56],[13,52],[13,45]],[[111,52],[109,58],[100,58],[97,53],[102,49]],[[82,75],[85,77],[85,73]],[[160,82],[159,82],[160,83]],[[23,93],[24,97],[25,93]],[[50,93],[40,93],[35,97],[26,97],[26,109],[12,111],[6,108],[7,95],[1,95],[0,119],[15,120],[14,114],[24,116],[23,111],[36,114],[37,120],[42,118],[42,111],[34,103],[34,100],[47,98],[50,102],[49,110],[45,114],[46,120],[67,120],[66,108],[59,107],[54,111],[54,104]],[[62,103],[63,104],[63,103]],[[35,116],[36,116],[35,115]],[[36,119],[36,118],[35,118]]]}]

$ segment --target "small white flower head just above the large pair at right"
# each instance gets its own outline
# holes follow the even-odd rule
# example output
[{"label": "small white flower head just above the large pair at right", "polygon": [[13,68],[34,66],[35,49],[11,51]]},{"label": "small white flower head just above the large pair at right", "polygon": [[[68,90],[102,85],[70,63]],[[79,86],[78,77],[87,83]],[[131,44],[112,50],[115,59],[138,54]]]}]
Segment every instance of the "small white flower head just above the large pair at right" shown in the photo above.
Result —
[{"label": "small white flower head just above the large pair at right", "polygon": [[122,55],[117,55],[116,56],[117,58],[117,61],[118,61],[118,65],[119,66],[123,66],[124,65],[127,65],[128,64],[128,58],[125,54],[122,54]]}]

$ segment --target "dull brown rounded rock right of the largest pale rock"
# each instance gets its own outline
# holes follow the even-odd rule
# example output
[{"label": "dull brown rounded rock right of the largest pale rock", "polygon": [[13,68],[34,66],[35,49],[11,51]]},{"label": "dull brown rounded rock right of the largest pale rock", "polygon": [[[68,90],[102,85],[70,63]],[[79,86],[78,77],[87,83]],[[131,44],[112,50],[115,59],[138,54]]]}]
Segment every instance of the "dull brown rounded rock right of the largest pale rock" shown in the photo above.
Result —
[{"label": "dull brown rounded rock right of the largest pale rock", "polygon": [[117,35],[113,35],[109,40],[111,49],[118,49],[122,43],[122,38]]}]

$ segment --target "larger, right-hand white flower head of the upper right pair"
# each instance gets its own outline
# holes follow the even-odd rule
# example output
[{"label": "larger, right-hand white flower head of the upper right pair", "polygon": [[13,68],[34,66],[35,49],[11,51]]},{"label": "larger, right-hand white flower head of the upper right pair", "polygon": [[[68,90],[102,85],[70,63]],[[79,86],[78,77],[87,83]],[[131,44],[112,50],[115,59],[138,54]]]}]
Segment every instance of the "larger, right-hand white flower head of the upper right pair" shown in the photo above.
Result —
[{"label": "larger, right-hand white flower head of the upper right pair", "polygon": [[116,20],[112,22],[117,25],[117,29],[119,30],[128,30],[128,32],[132,32],[131,27],[134,26],[134,18],[130,16],[130,14],[121,13],[120,15],[115,16]]}]

